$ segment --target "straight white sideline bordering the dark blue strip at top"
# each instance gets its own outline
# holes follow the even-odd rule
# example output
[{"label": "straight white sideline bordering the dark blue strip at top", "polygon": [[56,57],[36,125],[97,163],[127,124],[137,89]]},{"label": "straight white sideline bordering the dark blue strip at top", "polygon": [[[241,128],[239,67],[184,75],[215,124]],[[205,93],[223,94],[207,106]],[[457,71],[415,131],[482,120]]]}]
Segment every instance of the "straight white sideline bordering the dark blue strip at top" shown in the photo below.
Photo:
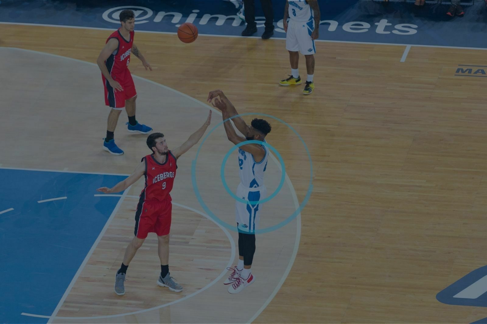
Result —
[{"label": "straight white sideline bordering the dark blue strip at top", "polygon": [[[4,21],[0,21],[0,24],[4,24],[4,25],[44,26],[44,27],[61,27],[61,28],[76,28],[76,29],[95,29],[95,30],[110,30],[110,31],[114,31],[116,29],[115,27],[113,27],[113,28],[97,28],[97,27],[80,27],[80,26],[64,26],[64,25],[48,25],[48,24],[31,24],[31,23],[23,23],[23,22],[4,22]],[[147,31],[147,30],[136,30],[136,32],[137,33],[149,33],[149,34],[172,34],[172,35],[177,35],[177,33],[172,33],[172,32],[154,32],[154,31]],[[260,36],[215,35],[215,34],[198,34],[198,36],[230,37],[230,38],[262,38]],[[286,40],[285,37],[271,37],[270,39]],[[394,45],[394,46],[408,46],[409,45],[409,46],[415,46],[415,47],[437,47],[437,48],[453,48],[453,49],[462,49],[462,50],[483,50],[483,51],[486,51],[487,50],[487,48],[482,48],[482,47],[460,47],[460,46],[441,46],[441,45],[418,45],[418,44],[356,42],[356,41],[347,41],[347,40],[327,40],[327,39],[315,39],[315,42],[325,42],[325,43],[350,43],[350,44],[371,44],[371,45]],[[5,47],[5,48],[11,48],[11,47]],[[42,52],[38,52],[38,53],[42,53]],[[49,53],[45,53],[45,54],[49,54]],[[55,55],[55,54],[51,54],[51,55]],[[67,58],[66,56],[61,56],[61,57]],[[69,58],[72,59],[71,57],[69,57]],[[86,61],[83,61],[83,62],[89,63],[89,62],[86,62]],[[177,90],[174,90],[174,91],[179,92]],[[179,92],[179,93],[181,93],[181,92]]]}]

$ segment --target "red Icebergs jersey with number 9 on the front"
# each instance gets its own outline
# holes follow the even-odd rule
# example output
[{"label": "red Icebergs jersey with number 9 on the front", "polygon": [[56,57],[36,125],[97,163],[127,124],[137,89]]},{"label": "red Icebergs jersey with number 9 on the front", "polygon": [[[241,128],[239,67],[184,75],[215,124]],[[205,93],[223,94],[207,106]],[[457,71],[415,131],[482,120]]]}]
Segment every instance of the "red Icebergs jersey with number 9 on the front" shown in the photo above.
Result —
[{"label": "red Icebergs jersey with number 9 on the front", "polygon": [[169,195],[172,190],[174,178],[176,177],[176,158],[168,151],[166,161],[159,163],[152,154],[142,158],[141,162],[146,162],[146,183],[140,193],[140,198],[144,201],[163,201],[171,199]]}]

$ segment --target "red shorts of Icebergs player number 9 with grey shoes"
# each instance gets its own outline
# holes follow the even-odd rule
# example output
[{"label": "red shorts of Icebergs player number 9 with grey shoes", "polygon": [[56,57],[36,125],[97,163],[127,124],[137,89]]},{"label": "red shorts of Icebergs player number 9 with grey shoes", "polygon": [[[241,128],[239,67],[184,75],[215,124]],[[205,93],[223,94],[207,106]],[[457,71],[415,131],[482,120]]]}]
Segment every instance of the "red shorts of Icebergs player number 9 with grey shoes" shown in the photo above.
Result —
[{"label": "red shorts of Icebergs player number 9 with grey shoes", "polygon": [[137,238],[146,238],[147,234],[168,235],[171,227],[171,198],[160,202],[139,201],[135,212],[135,231]]}]

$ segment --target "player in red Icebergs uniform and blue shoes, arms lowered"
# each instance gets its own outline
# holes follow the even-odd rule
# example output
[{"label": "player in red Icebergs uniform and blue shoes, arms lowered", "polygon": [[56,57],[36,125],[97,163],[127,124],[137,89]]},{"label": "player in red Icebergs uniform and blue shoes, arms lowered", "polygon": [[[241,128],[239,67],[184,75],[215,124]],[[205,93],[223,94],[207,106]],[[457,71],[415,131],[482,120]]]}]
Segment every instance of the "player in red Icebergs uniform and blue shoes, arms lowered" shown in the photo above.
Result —
[{"label": "player in red Icebergs uniform and blue shoes, arms lowered", "polygon": [[139,124],[135,119],[137,92],[129,71],[130,54],[137,56],[146,70],[152,71],[152,68],[133,43],[135,24],[133,11],[120,12],[120,24],[121,27],[108,37],[105,47],[96,60],[105,87],[105,105],[112,107],[108,115],[107,137],[104,138],[103,149],[114,155],[123,154],[123,151],[115,144],[113,132],[124,107],[129,117],[126,125],[130,132],[148,134],[152,130],[149,126]]}]

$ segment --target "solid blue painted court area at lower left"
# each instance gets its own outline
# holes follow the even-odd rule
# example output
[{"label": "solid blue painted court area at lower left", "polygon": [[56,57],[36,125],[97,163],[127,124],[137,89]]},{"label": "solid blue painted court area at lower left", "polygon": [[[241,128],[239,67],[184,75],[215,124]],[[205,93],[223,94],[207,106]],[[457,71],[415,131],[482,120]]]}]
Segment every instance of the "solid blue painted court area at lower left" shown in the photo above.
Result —
[{"label": "solid blue painted court area at lower left", "polygon": [[20,314],[52,315],[120,199],[96,189],[125,178],[0,168],[1,323],[47,323]]}]

